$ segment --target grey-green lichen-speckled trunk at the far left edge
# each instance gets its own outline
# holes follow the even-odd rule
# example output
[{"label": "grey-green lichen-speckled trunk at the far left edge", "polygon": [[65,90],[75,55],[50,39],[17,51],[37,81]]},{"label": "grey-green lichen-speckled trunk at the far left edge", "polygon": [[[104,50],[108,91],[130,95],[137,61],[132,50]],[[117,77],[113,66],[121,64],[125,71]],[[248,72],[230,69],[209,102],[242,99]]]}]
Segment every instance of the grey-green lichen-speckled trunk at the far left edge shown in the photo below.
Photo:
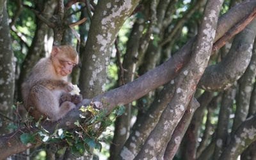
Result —
[{"label": "grey-green lichen-speckled trunk at the far left edge", "polygon": [[[12,117],[15,60],[12,51],[12,40],[8,24],[6,6],[0,12],[0,113]],[[8,121],[0,116],[0,133],[6,134]]]}]

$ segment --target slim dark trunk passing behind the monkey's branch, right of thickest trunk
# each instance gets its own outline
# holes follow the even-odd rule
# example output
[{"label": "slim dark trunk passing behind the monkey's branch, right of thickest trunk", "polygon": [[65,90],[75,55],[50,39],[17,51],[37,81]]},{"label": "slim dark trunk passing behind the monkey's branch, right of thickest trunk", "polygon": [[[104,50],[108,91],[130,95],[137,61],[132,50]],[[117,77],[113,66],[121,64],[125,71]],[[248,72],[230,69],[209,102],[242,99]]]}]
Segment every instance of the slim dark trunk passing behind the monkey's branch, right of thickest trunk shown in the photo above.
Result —
[{"label": "slim dark trunk passing behind the monkey's branch, right of thickest trunk", "polygon": [[[136,20],[127,42],[127,51],[124,55],[122,67],[125,69],[123,77],[119,76],[119,81],[124,78],[124,84],[131,82],[134,79],[134,72],[136,70],[136,58],[138,57],[138,48],[142,32],[140,31],[140,18]],[[127,137],[129,137],[131,125],[131,104],[125,105],[125,113],[116,118],[115,133],[110,148],[109,159],[118,159],[121,148],[124,146]]]}]

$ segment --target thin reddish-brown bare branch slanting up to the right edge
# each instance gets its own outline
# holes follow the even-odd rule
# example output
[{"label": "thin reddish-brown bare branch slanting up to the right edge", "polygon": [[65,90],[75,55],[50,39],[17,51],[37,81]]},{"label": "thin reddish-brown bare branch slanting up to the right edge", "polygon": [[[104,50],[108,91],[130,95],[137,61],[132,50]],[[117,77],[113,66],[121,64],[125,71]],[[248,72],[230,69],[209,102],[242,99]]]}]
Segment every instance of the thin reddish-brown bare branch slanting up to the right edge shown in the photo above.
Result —
[{"label": "thin reddish-brown bare branch slanting up to the right edge", "polygon": [[234,35],[237,35],[237,33],[241,32],[250,22],[252,22],[253,19],[255,19],[255,17],[256,17],[256,7],[253,8],[252,13],[250,13],[247,17],[245,17],[243,20],[238,22],[235,26],[230,28],[225,33],[225,35],[221,36],[221,38],[214,43],[212,47],[212,51],[217,51],[218,49],[223,47],[223,45],[225,45],[228,42],[228,40],[230,40]]}]

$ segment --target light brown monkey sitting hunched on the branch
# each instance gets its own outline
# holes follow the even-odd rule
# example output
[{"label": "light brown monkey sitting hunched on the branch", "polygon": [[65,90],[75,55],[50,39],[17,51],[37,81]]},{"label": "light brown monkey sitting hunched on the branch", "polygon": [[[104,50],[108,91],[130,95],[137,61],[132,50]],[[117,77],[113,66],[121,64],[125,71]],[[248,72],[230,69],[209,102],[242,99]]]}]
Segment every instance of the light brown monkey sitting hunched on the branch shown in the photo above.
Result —
[{"label": "light brown monkey sitting hunched on the branch", "polygon": [[67,76],[78,63],[78,54],[70,45],[53,46],[51,55],[42,58],[22,83],[24,106],[35,120],[63,118],[81,102],[81,95],[71,95],[74,88]]}]

